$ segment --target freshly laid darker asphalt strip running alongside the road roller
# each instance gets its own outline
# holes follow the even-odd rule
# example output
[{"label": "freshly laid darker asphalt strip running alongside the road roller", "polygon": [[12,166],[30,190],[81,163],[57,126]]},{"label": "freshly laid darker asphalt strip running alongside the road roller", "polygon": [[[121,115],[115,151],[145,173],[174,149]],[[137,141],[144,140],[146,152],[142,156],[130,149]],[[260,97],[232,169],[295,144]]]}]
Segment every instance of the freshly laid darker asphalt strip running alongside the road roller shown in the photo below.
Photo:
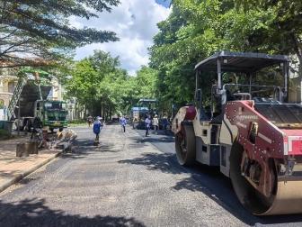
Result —
[{"label": "freshly laid darker asphalt strip running alongside the road roller", "polygon": [[[167,136],[164,132],[155,133],[151,131],[151,136],[145,137],[144,130],[137,130],[137,132],[143,137],[144,141],[152,143],[158,150],[169,154],[167,158],[173,168],[179,166],[174,155],[174,139],[172,135]],[[257,226],[302,226],[301,214],[255,217],[244,211],[242,205],[237,201],[229,179],[220,174],[217,168],[209,168],[197,164],[193,168],[185,168],[185,171],[190,172],[191,180],[194,182],[193,185],[197,186],[194,187],[194,190],[197,188],[201,189],[201,187],[207,188],[209,197],[214,196],[218,204],[246,224]]]}]

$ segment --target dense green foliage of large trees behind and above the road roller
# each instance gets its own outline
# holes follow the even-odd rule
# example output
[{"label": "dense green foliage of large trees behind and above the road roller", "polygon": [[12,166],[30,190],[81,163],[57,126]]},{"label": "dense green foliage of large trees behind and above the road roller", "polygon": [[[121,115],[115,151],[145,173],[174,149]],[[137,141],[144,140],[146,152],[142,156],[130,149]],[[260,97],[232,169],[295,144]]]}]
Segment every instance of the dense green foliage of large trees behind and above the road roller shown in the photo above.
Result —
[{"label": "dense green foliage of large trees behind and above the road roller", "polygon": [[[296,54],[301,63],[301,12],[298,0],[174,0],[150,48],[162,107],[192,102],[194,66],[220,50]],[[212,83],[213,77],[202,75],[208,95]]]}]

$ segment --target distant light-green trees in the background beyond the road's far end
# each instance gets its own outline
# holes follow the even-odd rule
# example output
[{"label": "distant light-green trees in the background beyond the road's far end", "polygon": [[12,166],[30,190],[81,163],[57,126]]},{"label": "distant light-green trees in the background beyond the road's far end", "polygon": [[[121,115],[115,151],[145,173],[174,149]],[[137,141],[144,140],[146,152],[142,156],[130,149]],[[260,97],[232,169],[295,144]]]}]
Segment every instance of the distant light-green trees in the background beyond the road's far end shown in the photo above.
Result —
[{"label": "distant light-green trees in the background beyond the road's far end", "polygon": [[128,114],[142,97],[155,97],[154,69],[142,67],[137,77],[120,68],[120,59],[94,50],[91,57],[76,62],[73,79],[67,81],[69,96],[76,96],[90,114]]}]

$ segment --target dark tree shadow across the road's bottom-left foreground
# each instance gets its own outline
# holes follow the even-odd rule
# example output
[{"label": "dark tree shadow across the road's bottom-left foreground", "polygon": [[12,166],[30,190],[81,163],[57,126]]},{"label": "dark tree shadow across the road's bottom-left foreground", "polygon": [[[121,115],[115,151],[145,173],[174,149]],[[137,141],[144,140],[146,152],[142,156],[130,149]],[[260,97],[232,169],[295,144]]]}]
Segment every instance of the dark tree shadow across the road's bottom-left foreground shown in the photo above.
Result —
[{"label": "dark tree shadow across the road's bottom-left foreground", "polygon": [[85,217],[51,210],[43,199],[25,199],[18,203],[0,201],[1,226],[145,226],[134,218]]}]

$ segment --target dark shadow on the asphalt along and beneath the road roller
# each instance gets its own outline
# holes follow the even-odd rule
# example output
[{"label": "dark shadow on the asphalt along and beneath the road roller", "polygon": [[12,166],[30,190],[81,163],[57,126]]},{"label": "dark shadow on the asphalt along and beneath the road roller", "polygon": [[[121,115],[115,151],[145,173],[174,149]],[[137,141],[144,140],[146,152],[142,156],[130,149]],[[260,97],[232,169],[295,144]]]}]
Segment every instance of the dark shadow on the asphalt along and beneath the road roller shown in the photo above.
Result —
[{"label": "dark shadow on the asphalt along and beneath the road roller", "polygon": [[[142,143],[141,145],[144,146],[145,144]],[[139,158],[120,160],[119,163],[142,165],[146,166],[148,170],[160,170],[173,175],[188,173],[190,177],[185,177],[177,182],[172,187],[173,190],[202,192],[236,218],[249,225],[302,222],[301,215],[254,216],[239,203],[230,180],[224,177],[218,168],[210,168],[200,164],[191,168],[183,168],[178,164],[175,154],[172,153],[145,153]]]}]

